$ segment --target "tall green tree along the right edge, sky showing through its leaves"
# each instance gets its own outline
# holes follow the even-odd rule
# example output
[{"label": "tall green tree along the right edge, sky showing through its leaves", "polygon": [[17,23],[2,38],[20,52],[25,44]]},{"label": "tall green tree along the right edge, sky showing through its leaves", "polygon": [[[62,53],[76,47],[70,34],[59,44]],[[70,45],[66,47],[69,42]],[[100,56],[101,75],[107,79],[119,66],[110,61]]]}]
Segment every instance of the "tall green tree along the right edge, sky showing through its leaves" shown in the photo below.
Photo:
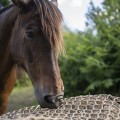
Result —
[{"label": "tall green tree along the right edge, sky showing through its leaves", "polygon": [[105,64],[105,77],[108,91],[117,92],[120,86],[120,1],[105,0],[102,7],[91,2],[87,13],[88,28],[96,32],[101,48],[105,49],[102,61]]}]

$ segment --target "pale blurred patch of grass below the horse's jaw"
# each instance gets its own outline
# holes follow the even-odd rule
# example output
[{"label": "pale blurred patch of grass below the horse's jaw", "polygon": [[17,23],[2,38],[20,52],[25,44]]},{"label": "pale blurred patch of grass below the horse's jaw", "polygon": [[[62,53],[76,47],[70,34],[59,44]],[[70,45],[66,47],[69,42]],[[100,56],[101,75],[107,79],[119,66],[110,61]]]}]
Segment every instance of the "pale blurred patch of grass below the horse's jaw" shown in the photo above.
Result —
[{"label": "pale blurred patch of grass below the horse's jaw", "polygon": [[31,84],[24,87],[15,87],[9,98],[7,112],[36,104],[37,102]]}]

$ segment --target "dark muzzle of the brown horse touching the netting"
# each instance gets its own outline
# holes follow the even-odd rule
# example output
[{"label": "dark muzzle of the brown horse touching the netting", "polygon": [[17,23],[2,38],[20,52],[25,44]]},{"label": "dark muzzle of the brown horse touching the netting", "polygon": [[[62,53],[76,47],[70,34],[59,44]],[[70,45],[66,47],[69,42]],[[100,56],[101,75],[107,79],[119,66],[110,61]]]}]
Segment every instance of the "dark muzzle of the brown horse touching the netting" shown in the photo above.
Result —
[{"label": "dark muzzle of the brown horse touching the netting", "polygon": [[64,89],[59,93],[54,93],[50,92],[50,90],[44,91],[39,87],[35,87],[35,96],[41,107],[53,109],[59,107],[63,103]]}]

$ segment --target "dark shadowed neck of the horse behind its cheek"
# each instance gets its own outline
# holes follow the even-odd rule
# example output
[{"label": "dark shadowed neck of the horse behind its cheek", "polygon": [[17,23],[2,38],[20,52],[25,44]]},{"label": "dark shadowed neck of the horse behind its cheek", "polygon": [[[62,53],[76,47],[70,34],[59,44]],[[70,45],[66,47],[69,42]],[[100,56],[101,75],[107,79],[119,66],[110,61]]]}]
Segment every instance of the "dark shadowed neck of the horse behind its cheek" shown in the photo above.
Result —
[{"label": "dark shadowed neck of the horse behind its cheek", "polygon": [[10,7],[0,14],[0,79],[12,69],[13,61],[10,50],[12,29],[18,15],[16,7]]}]

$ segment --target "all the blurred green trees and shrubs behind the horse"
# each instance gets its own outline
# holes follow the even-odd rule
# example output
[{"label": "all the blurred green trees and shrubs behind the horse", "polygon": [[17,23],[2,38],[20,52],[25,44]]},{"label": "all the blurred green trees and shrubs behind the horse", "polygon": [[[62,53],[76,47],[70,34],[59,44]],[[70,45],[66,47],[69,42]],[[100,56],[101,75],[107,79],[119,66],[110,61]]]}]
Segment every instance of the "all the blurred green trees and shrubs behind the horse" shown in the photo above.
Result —
[{"label": "all the blurred green trees and shrubs behind the horse", "polygon": [[[86,31],[63,32],[66,57],[60,56],[59,64],[65,96],[102,93],[119,96],[120,1],[104,0],[101,7],[91,2],[86,17]],[[21,78],[16,87],[30,86],[25,75]]]}]

